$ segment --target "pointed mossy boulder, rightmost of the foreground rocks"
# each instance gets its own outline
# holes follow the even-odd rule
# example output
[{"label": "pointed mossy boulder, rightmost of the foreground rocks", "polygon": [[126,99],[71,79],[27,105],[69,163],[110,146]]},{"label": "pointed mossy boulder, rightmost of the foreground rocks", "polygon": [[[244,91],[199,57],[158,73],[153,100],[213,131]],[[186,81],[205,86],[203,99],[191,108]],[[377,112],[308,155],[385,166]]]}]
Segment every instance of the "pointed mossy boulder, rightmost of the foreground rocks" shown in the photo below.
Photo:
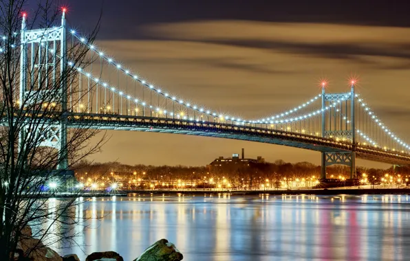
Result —
[{"label": "pointed mossy boulder, rightmost of the foreground rocks", "polygon": [[184,258],[182,253],[166,239],[155,242],[147,248],[141,256],[133,261],[180,261]]}]

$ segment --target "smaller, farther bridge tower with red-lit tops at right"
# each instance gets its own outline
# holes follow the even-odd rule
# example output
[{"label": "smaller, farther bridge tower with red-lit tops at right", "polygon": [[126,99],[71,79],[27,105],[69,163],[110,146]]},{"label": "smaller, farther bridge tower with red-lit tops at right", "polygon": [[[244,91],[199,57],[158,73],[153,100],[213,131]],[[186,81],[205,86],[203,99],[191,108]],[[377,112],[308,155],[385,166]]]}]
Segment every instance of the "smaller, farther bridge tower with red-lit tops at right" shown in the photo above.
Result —
[{"label": "smaller, farther bridge tower with red-lit tops at right", "polygon": [[[349,93],[325,93],[325,85],[322,85],[322,137],[343,138],[352,141],[352,150],[346,152],[324,151],[321,152],[321,179],[326,179],[326,167],[341,164],[350,167],[350,179],[356,177],[356,120],[355,120],[355,103],[356,94],[354,91],[355,82],[351,82]],[[338,102],[341,104],[340,110],[345,109],[345,124],[338,123],[336,108],[334,115],[330,109],[330,115],[327,117],[327,105]],[[342,108],[343,105],[345,108]],[[332,122],[333,119],[333,122]]]}]

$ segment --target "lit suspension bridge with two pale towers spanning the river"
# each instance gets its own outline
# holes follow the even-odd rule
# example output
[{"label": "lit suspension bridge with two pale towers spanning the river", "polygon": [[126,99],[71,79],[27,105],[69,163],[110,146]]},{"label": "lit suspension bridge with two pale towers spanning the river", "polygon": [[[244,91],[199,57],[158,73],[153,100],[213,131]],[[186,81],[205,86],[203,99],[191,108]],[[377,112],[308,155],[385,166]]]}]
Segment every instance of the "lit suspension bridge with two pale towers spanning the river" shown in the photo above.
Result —
[{"label": "lit suspension bridge with two pale towers spanning the river", "polygon": [[[186,98],[144,80],[80,32],[67,27],[64,10],[61,25],[56,27],[28,30],[26,23],[24,15],[19,33],[19,101],[27,99],[29,91],[40,89],[33,79],[41,73],[49,72],[46,81],[53,82],[67,68],[76,70],[73,78],[59,85],[65,90],[60,101],[65,117],[41,141],[41,146],[60,151],[61,169],[69,166],[65,151],[67,130],[84,126],[239,139],[314,150],[321,153],[322,179],[326,178],[326,167],[334,164],[349,166],[350,177],[356,177],[356,158],[410,164],[409,144],[393,133],[356,93],[354,80],[345,93],[327,93],[323,82],[321,93],[293,109],[242,119],[204,104],[190,104]],[[70,60],[68,52],[78,47],[87,50],[89,63]]]}]

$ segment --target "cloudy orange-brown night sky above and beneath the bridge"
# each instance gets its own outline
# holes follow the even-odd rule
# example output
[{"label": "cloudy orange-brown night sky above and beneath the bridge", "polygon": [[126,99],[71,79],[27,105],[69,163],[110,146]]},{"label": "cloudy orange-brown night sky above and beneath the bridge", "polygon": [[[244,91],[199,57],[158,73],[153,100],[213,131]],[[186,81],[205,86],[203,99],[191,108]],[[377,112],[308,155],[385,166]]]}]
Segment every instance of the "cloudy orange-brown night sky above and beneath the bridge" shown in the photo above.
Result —
[{"label": "cloudy orange-brown night sky above and beneath the bridge", "polygon": [[[241,117],[287,111],[319,93],[358,92],[399,137],[410,138],[410,3],[406,1],[65,1],[96,45],[185,100]],[[246,141],[109,132],[95,161],[198,166],[247,157],[319,163],[319,152]],[[366,166],[380,164],[365,163]]]}]

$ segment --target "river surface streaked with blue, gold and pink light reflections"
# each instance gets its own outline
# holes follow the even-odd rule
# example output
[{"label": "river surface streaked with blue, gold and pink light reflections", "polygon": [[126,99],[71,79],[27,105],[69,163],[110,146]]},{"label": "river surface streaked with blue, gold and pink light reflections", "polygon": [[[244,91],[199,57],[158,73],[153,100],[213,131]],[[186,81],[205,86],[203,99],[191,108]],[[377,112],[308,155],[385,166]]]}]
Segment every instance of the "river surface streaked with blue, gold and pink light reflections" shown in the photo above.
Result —
[{"label": "river surface streaked with blue, gold and pink light reflections", "polygon": [[[91,220],[77,241],[87,254],[112,250],[125,260],[161,238],[188,261],[409,260],[409,202],[407,195],[93,198],[76,215],[107,216]],[[86,257],[78,248],[60,252]]]}]

